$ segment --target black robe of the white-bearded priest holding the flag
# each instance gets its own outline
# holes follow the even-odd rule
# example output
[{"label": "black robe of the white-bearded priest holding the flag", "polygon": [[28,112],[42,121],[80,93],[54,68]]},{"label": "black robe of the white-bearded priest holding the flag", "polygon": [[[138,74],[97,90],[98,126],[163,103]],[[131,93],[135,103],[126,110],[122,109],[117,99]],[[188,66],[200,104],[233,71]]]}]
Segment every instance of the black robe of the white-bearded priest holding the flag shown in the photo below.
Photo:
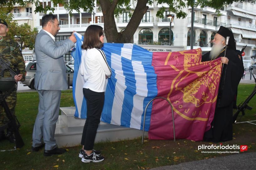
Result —
[{"label": "black robe of the white-bearded priest holding the flag", "polygon": [[[201,61],[210,61],[209,54],[210,52],[203,55]],[[224,54],[225,51],[217,58],[223,57]],[[204,141],[221,142],[232,140],[233,137],[233,100],[244,68],[236,51],[227,49],[226,57],[229,61],[223,66],[212,128],[205,132]]]}]

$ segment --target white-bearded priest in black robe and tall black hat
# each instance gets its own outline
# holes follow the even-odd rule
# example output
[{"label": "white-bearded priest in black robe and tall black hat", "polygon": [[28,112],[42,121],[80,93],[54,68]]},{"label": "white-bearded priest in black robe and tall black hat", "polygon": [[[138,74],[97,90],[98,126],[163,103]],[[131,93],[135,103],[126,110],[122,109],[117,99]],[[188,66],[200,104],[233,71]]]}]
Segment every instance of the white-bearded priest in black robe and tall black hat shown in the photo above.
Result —
[{"label": "white-bearded priest in black robe and tall black hat", "polygon": [[[227,48],[226,37],[229,36]],[[244,72],[243,63],[236,52],[233,33],[226,27],[220,27],[212,40],[212,50],[202,56],[201,61],[221,58],[224,64],[218,91],[217,103],[212,127],[204,134],[204,141],[220,142],[232,140],[233,100]],[[226,52],[226,57],[224,57]]]}]

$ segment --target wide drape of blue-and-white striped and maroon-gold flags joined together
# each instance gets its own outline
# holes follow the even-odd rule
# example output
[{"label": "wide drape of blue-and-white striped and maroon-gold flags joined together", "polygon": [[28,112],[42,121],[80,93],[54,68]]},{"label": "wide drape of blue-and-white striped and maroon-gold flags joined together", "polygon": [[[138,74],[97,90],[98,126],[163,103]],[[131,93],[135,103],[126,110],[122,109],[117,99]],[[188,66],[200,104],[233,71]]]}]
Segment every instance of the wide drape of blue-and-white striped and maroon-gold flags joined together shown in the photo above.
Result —
[{"label": "wide drape of blue-and-white striped and maroon-gold flags joined together", "polygon": [[[86,118],[80,74],[82,36],[76,34],[73,97],[75,116]],[[134,44],[104,43],[112,69],[106,81],[101,121],[143,129],[144,111],[150,100],[165,97],[173,105],[175,136],[202,140],[210,129],[221,74],[220,60],[200,62],[201,49],[178,52],[149,52]],[[156,99],[147,108],[145,130],[149,139],[172,139],[170,105]]]}]

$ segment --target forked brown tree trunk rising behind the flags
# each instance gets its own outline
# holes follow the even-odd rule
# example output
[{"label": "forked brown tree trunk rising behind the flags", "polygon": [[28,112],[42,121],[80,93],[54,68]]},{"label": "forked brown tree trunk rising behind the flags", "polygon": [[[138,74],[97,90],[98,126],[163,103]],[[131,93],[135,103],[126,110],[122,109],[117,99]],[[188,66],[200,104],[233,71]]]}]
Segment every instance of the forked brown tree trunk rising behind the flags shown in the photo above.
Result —
[{"label": "forked brown tree trunk rising behind the flags", "polygon": [[146,6],[147,0],[138,0],[133,15],[123,32],[117,31],[114,18],[114,10],[117,6],[118,0],[113,0],[112,3],[110,3],[109,0],[100,0],[99,2],[104,16],[104,32],[107,38],[107,42],[131,43],[133,35],[136,32],[142,17],[149,8]]}]

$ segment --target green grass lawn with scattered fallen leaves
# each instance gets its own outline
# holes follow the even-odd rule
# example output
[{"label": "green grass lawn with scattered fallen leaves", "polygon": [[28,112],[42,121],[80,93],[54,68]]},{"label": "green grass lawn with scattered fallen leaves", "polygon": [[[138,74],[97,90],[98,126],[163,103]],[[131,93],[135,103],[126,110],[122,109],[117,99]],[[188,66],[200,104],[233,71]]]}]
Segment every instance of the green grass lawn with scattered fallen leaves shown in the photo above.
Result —
[{"label": "green grass lawn with scattered fallen leaves", "polygon": [[[240,84],[238,86],[237,104],[241,103],[252,92],[254,85]],[[165,165],[173,165],[194,160],[226,156],[230,153],[201,153],[198,145],[219,145],[220,143],[193,142],[186,139],[148,140],[141,144],[141,138],[119,142],[103,142],[95,145],[105,156],[101,163],[82,163],[78,157],[80,146],[67,148],[63,155],[44,157],[43,150],[31,152],[32,131],[38,109],[38,94],[18,93],[16,115],[21,123],[20,134],[25,146],[19,150],[0,152],[0,169],[2,170],[126,170],[149,169]],[[252,110],[246,110],[245,116],[238,117],[238,122],[256,120],[256,96],[249,103]],[[74,106],[72,91],[61,94],[60,107]],[[234,110],[235,112],[235,110]],[[241,118],[241,119],[240,119]],[[256,124],[256,122],[253,122]],[[248,151],[256,151],[256,125],[249,123],[233,124],[233,140],[223,142],[223,145],[248,145]],[[0,141],[0,150],[13,149],[15,145],[7,140]],[[220,150],[226,151],[226,150]],[[238,149],[232,151],[239,151]],[[232,153],[234,154],[234,153]]]}]

